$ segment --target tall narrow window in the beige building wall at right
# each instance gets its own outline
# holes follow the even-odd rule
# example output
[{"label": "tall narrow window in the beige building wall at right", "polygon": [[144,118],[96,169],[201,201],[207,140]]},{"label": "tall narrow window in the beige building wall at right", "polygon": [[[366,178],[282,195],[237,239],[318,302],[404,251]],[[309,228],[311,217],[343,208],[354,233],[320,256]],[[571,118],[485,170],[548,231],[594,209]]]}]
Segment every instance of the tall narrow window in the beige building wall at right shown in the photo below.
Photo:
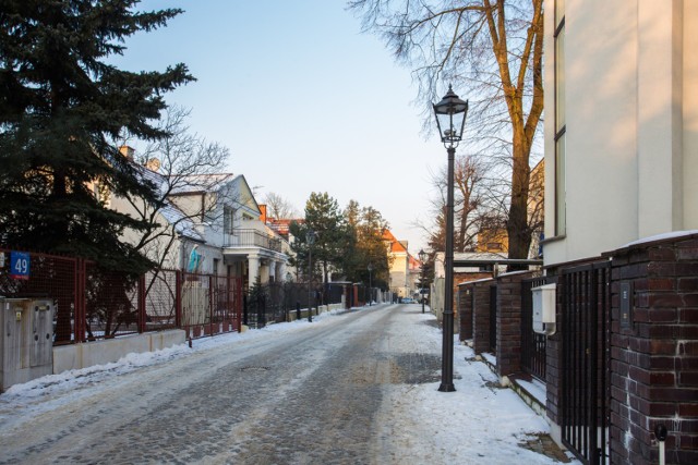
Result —
[{"label": "tall narrow window in the beige building wall at right", "polygon": [[567,229],[565,169],[565,1],[555,0],[555,235]]}]

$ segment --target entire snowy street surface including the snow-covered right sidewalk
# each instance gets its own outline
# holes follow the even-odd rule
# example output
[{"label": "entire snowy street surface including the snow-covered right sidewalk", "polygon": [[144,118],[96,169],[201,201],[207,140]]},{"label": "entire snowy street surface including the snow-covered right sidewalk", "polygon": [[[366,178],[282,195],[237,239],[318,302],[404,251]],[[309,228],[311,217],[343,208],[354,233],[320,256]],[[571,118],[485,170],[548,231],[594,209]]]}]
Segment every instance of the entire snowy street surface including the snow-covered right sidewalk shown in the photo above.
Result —
[{"label": "entire snowy street surface including the snow-covered right sidewalk", "polygon": [[0,463],[551,464],[545,421],[417,305],[323,315],[0,395]]}]

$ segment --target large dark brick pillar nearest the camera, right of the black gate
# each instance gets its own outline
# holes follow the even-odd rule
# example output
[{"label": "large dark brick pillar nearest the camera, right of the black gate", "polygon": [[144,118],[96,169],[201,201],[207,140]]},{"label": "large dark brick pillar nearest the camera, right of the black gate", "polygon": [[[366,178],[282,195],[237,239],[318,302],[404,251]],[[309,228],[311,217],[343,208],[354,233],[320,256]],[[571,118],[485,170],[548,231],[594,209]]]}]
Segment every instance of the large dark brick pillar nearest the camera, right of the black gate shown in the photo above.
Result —
[{"label": "large dark brick pillar nearest the camera, right of the black gate", "polygon": [[[611,461],[698,463],[698,234],[638,244],[613,257]],[[622,325],[622,286],[630,290]],[[628,287],[625,287],[628,289]]]}]

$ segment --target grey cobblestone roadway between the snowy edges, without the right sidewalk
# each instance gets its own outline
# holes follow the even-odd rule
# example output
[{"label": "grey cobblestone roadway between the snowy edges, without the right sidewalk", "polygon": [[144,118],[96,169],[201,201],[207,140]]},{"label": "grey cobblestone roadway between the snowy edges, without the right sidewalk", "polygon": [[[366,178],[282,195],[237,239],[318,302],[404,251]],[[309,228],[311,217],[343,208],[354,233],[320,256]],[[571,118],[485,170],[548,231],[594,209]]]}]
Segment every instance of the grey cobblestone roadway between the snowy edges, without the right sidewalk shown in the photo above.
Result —
[{"label": "grey cobblestone roadway between the snowy edges, without the right sidewalk", "polygon": [[39,416],[3,411],[0,462],[385,462],[383,387],[433,380],[440,368],[417,347],[390,352],[390,322],[402,311],[356,311],[234,352],[140,369],[106,389],[67,393],[69,402]]}]

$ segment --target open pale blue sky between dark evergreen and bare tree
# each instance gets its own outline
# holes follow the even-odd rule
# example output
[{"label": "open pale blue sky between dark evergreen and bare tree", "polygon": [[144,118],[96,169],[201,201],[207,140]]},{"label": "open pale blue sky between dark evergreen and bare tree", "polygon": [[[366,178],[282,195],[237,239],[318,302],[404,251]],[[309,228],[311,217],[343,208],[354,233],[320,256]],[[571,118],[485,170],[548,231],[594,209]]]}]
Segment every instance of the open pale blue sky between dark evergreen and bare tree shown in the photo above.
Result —
[{"label": "open pale blue sky between dark evergreen and bare tree", "polygon": [[[421,134],[410,70],[361,33],[341,0],[145,0],[185,10],[129,39],[131,71],[184,62],[197,82],[168,95],[192,109],[193,131],[231,151],[221,171],[244,174],[257,200],[274,192],[303,211],[311,192],[341,208],[372,206],[417,255],[431,224],[430,170],[446,150]],[[461,96],[467,98],[467,96]]]}]

